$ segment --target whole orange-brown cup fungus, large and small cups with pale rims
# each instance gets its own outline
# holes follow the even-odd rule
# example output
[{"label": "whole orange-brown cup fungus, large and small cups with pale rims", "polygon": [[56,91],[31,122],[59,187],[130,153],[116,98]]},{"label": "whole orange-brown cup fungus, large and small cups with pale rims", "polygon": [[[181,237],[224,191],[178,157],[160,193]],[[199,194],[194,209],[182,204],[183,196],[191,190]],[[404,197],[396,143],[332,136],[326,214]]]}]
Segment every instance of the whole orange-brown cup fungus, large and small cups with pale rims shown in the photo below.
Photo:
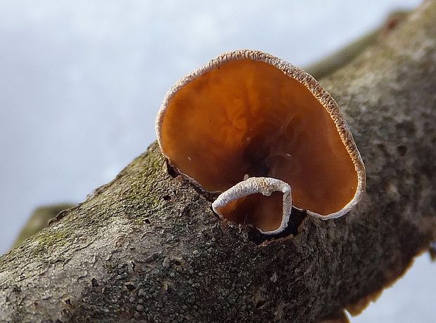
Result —
[{"label": "whole orange-brown cup fungus, large and small cups with pale rims", "polygon": [[338,218],[364,192],[364,164],[335,100],[268,53],[224,53],[181,79],[156,131],[178,173],[222,192],[212,204],[221,218],[264,234],[286,228],[291,206]]}]

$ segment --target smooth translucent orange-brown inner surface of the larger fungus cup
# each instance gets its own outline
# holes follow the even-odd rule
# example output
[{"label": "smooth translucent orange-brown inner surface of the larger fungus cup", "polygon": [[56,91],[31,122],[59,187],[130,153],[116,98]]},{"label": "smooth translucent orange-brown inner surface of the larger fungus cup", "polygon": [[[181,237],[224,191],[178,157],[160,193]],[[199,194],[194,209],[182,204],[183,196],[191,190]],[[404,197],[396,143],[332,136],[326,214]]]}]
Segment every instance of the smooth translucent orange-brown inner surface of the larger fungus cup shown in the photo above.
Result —
[{"label": "smooth translucent orange-brown inner surface of the larger fungus cup", "polygon": [[328,215],[357,191],[331,115],[267,62],[228,60],[192,79],[167,103],[160,136],[171,163],[210,192],[247,176],[278,178],[293,187],[296,207]]}]

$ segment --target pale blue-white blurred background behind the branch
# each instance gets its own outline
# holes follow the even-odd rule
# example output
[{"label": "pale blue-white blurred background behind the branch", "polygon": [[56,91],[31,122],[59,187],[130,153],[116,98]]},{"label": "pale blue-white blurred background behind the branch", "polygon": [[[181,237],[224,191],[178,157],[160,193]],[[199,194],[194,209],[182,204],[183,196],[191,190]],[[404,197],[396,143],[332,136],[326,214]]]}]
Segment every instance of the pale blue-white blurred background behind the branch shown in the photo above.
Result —
[{"label": "pale blue-white blurred background behind the branch", "polygon": [[[80,202],[155,140],[177,79],[236,48],[309,65],[418,0],[0,0],[0,253],[32,210]],[[423,255],[352,322],[435,322]]]}]

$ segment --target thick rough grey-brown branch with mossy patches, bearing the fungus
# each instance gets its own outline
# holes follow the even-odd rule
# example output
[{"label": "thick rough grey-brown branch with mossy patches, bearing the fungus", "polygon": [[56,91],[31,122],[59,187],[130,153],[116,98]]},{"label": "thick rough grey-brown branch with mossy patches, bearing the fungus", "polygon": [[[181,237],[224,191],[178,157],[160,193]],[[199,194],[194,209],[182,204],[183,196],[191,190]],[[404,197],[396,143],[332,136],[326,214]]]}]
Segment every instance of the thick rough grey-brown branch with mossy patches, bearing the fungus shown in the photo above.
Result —
[{"label": "thick rough grey-brown branch with mossy patches, bearing the fungus", "polygon": [[367,194],[347,216],[305,217],[257,244],[170,176],[154,143],[0,258],[0,318],[313,322],[361,309],[436,240],[435,22],[425,2],[322,81],[366,163]]}]

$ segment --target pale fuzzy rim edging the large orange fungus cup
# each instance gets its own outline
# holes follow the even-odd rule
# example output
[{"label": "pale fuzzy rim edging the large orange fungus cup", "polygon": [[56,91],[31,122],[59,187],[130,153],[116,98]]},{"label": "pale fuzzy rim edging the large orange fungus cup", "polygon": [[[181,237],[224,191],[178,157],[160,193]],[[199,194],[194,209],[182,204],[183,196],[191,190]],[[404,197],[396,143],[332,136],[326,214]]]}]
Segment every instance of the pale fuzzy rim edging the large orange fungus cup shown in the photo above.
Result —
[{"label": "pale fuzzy rim edging the large orange fungus cup", "polygon": [[[342,140],[342,143],[345,145],[348,154],[350,154],[350,157],[354,164],[354,169],[357,172],[356,193],[354,194],[352,200],[348,202],[338,212],[331,213],[325,216],[310,210],[307,210],[307,213],[309,214],[309,216],[312,216],[314,218],[321,218],[322,220],[328,220],[331,218],[340,218],[341,216],[344,216],[346,213],[350,212],[354,208],[354,206],[356,206],[357,203],[359,203],[366,186],[366,171],[365,171],[364,162],[361,159],[356,143],[354,143],[354,139],[352,137],[350,128],[347,125],[347,121],[345,121],[342,112],[340,112],[338,104],[332,98],[330,93],[324,90],[319,84],[319,82],[316,81],[314,77],[312,77],[312,75],[310,75],[307,72],[304,72],[303,70],[300,70],[300,68],[295,67],[289,62],[286,62],[285,60],[281,60],[281,58],[277,58],[276,56],[271,55],[269,53],[264,53],[262,51],[248,50],[248,49],[223,53],[222,55],[219,55],[214,60],[211,60],[206,65],[203,65],[202,67],[193,71],[191,74],[188,74],[186,77],[180,79],[176,84],[174,84],[174,86],[172,86],[172,88],[170,88],[169,91],[167,92],[167,95],[165,95],[165,98],[162,102],[162,105],[160,106],[158,117],[156,118],[156,123],[155,123],[155,129],[158,135],[158,143],[160,145],[162,153],[165,155],[165,152],[163,152],[162,150],[160,128],[162,126],[163,120],[165,119],[167,106],[169,102],[172,100],[172,98],[174,97],[174,95],[176,95],[181,88],[183,88],[186,84],[191,82],[193,79],[196,79],[197,77],[200,77],[201,75],[209,72],[210,70],[219,67],[219,65],[222,65],[224,62],[229,62],[233,60],[244,60],[244,59],[266,62],[267,64],[278,68],[278,70],[281,70],[288,77],[295,79],[296,81],[299,81],[301,84],[306,86],[306,88],[312,93],[312,95],[314,95],[314,97],[319,101],[319,103],[321,103],[321,105],[326,109],[326,111],[330,115],[331,119],[335,123],[336,128],[338,129],[338,133],[340,139]],[[171,161],[169,160],[169,162]],[[177,169],[177,171],[179,170]],[[181,173],[181,171],[179,171],[179,173]],[[188,180],[193,182],[198,187],[201,187],[201,185],[198,184],[195,178],[191,178],[184,173],[181,174],[186,176]],[[290,184],[292,185],[292,183]],[[238,184],[236,184],[234,187],[236,187],[237,185]]]}]

